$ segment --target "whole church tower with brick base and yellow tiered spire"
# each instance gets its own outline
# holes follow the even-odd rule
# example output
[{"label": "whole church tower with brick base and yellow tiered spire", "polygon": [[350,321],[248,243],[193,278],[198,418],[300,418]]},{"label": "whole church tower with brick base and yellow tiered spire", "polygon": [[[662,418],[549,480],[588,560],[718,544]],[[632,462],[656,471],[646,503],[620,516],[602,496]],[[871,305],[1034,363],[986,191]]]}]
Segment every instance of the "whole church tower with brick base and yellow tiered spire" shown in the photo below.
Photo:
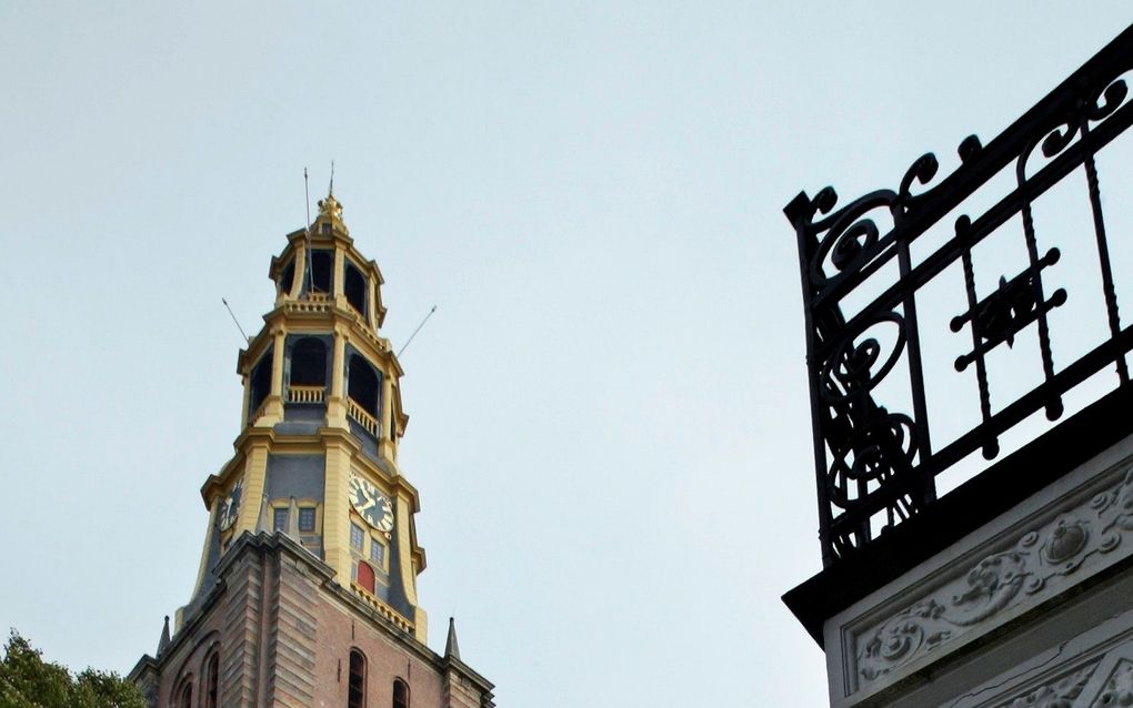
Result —
[{"label": "whole church tower with brick base and yellow tiered spire", "polygon": [[333,187],[318,207],[272,258],[274,307],[239,353],[241,433],[201,489],[193,595],[130,677],[154,708],[488,708],[452,621],[443,656],[425,645],[384,281]]}]

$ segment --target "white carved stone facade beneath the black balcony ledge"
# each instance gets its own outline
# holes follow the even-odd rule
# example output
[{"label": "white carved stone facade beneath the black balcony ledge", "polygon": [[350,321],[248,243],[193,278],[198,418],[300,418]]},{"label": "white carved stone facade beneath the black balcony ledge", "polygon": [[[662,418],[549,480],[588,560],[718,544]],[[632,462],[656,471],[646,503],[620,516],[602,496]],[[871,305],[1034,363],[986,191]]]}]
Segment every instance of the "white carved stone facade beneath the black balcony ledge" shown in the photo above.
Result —
[{"label": "white carved stone facade beneath the black balcony ledge", "polygon": [[1133,706],[1133,436],[824,625],[830,706]]}]

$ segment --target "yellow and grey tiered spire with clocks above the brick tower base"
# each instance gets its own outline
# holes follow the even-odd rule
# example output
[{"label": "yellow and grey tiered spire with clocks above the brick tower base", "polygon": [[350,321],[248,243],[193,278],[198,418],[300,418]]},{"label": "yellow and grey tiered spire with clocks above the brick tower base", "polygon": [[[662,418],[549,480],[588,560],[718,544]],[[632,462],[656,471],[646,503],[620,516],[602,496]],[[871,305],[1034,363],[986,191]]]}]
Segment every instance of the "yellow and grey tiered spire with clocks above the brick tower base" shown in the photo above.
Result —
[{"label": "yellow and grey tiered spire with clocks above the brick tower base", "polygon": [[237,361],[244,430],[202,488],[212,520],[194,596],[240,535],[282,532],[424,640],[419,504],[398,467],[402,369],[381,334],[382,272],[355,248],[342,211],[331,187],[309,234],[290,233],[272,258],[274,307]]}]

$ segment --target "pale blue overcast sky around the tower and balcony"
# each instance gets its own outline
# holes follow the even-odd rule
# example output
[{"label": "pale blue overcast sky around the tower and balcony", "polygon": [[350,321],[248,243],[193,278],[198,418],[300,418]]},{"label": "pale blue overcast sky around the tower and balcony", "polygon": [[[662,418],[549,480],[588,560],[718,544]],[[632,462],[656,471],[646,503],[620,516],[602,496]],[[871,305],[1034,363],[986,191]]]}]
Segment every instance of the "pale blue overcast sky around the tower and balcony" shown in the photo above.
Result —
[{"label": "pale blue overcast sky around the tower and balcony", "polygon": [[[193,588],[267,264],[335,160],[419,580],[501,707],[819,706],[800,189],[990,139],[1092,2],[0,7],[0,628],[128,671]],[[951,163],[949,163],[951,164]]]}]

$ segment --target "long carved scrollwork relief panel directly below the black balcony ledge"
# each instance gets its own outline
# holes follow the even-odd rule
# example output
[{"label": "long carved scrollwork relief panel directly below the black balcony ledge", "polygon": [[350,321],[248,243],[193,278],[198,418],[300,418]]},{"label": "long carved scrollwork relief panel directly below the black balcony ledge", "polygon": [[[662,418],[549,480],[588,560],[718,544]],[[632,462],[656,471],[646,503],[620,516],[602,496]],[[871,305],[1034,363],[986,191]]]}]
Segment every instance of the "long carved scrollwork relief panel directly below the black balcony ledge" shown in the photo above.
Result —
[{"label": "long carved scrollwork relief panel directly below the black balcony ledge", "polygon": [[858,637],[858,673],[876,681],[1026,600],[1055,578],[1109,553],[1133,531],[1133,469],[1114,488],[1024,534],[1014,548],[991,554]]}]

